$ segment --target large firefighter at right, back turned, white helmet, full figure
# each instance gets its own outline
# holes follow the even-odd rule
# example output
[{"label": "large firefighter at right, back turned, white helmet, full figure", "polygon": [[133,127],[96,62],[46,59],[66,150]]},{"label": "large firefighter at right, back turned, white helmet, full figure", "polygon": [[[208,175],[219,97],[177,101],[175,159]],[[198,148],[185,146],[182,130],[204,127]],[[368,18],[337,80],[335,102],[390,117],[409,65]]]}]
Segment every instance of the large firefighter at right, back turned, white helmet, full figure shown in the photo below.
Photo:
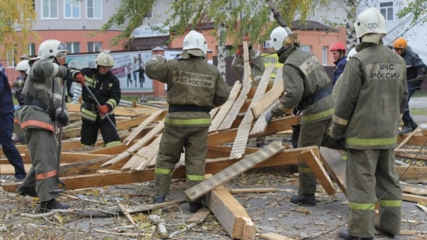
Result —
[{"label": "large firefighter at right, back turned, white helmet, full figure", "polygon": [[[374,228],[395,237],[401,222],[396,129],[408,97],[406,64],[382,44],[387,30],[379,10],[361,12],[354,28],[361,44],[340,80],[331,129],[332,138],[343,142],[348,154],[345,185],[349,223],[339,237],[374,239]],[[379,216],[374,223],[376,199]]]}]

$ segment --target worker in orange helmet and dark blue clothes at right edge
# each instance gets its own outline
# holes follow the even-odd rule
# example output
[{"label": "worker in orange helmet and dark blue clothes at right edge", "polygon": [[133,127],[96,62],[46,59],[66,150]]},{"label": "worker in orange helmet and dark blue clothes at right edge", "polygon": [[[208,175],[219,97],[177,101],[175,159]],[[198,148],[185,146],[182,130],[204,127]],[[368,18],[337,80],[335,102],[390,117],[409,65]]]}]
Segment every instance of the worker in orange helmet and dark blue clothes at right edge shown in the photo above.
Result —
[{"label": "worker in orange helmet and dark blue clothes at right edge", "polygon": [[418,127],[418,124],[409,114],[409,100],[412,95],[414,95],[415,91],[421,89],[421,82],[423,82],[423,80],[418,80],[415,82],[410,82],[410,80],[427,74],[426,64],[424,64],[423,60],[419,58],[417,53],[414,53],[408,48],[408,43],[403,37],[400,37],[396,39],[395,42],[393,42],[393,49],[395,50],[395,53],[403,57],[406,62],[406,78],[408,79],[409,92],[404,116],[402,117],[402,120],[404,121],[404,127],[401,129],[401,131],[399,131],[399,135],[410,133]]}]

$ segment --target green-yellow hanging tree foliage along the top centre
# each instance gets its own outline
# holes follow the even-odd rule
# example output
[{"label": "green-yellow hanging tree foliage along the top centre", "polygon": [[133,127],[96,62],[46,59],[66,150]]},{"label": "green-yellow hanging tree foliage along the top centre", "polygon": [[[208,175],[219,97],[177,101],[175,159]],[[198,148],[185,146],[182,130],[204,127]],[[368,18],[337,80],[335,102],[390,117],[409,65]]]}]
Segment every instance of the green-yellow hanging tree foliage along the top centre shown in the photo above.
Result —
[{"label": "green-yellow hanging tree foliage along the top centre", "polygon": [[[305,20],[307,16],[319,5],[324,5],[328,0],[275,0],[274,5],[288,25],[292,24],[294,17]],[[169,18],[164,25],[171,26],[175,35],[183,35],[187,30],[198,29],[200,24],[214,23],[212,35],[218,36],[218,27],[225,24],[227,30],[220,35],[218,41],[225,38],[235,39],[238,44],[243,35],[249,35],[252,42],[265,41],[271,30],[278,26],[272,18],[269,8],[270,1],[265,0],[175,0],[170,1],[171,8],[166,15]],[[124,26],[124,31],[111,39],[111,44],[116,45],[121,39],[129,38],[132,31],[142,25],[144,16],[149,13],[156,0],[122,0],[122,5],[117,12],[108,19],[102,28],[93,34],[105,32],[115,26]],[[267,24],[272,21],[273,24]],[[240,22],[240,27],[238,23]],[[238,27],[238,31],[234,29]]]}]

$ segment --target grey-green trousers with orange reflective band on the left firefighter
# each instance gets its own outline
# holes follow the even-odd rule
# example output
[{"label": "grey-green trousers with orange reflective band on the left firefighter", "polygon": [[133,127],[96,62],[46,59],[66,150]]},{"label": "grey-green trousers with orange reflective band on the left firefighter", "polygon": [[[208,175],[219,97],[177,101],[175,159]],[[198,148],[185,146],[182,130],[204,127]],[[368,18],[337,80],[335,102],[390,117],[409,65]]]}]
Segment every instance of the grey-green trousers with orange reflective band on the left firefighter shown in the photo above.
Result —
[{"label": "grey-green trousers with orange reflective band on the left firefighter", "polygon": [[57,190],[58,142],[55,133],[41,129],[24,131],[32,167],[24,179],[23,187],[36,187],[42,202],[56,199]]}]

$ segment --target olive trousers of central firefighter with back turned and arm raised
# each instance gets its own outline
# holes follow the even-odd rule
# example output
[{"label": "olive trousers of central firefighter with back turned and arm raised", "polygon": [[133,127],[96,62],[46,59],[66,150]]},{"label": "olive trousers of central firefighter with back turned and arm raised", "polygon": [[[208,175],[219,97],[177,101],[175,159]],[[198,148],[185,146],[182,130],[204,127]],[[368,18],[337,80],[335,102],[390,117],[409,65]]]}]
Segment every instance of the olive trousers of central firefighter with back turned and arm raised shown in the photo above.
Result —
[{"label": "olive trousers of central firefighter with back turned and arm raised", "polygon": [[[155,162],[155,194],[169,194],[171,173],[185,150],[186,189],[205,180],[205,156],[209,127],[164,126]],[[189,199],[187,198],[189,201]],[[196,201],[200,202],[201,199]]]}]

